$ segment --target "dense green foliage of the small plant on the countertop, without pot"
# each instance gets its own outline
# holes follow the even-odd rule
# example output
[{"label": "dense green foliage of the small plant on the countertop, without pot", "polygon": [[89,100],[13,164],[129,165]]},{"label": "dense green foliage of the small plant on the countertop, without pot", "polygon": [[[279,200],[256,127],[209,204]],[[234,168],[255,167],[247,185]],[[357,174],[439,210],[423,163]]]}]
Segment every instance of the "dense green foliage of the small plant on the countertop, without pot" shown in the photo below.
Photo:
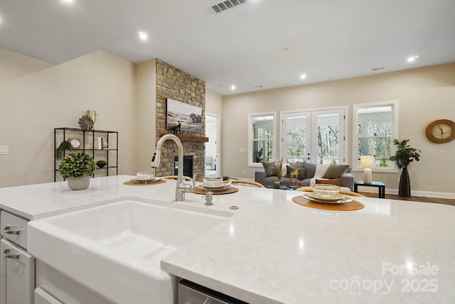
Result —
[{"label": "dense green foliage of the small plant on the countertop, without pot", "polygon": [[82,178],[95,172],[96,164],[92,156],[87,153],[70,153],[63,158],[58,171],[63,178]]}]

